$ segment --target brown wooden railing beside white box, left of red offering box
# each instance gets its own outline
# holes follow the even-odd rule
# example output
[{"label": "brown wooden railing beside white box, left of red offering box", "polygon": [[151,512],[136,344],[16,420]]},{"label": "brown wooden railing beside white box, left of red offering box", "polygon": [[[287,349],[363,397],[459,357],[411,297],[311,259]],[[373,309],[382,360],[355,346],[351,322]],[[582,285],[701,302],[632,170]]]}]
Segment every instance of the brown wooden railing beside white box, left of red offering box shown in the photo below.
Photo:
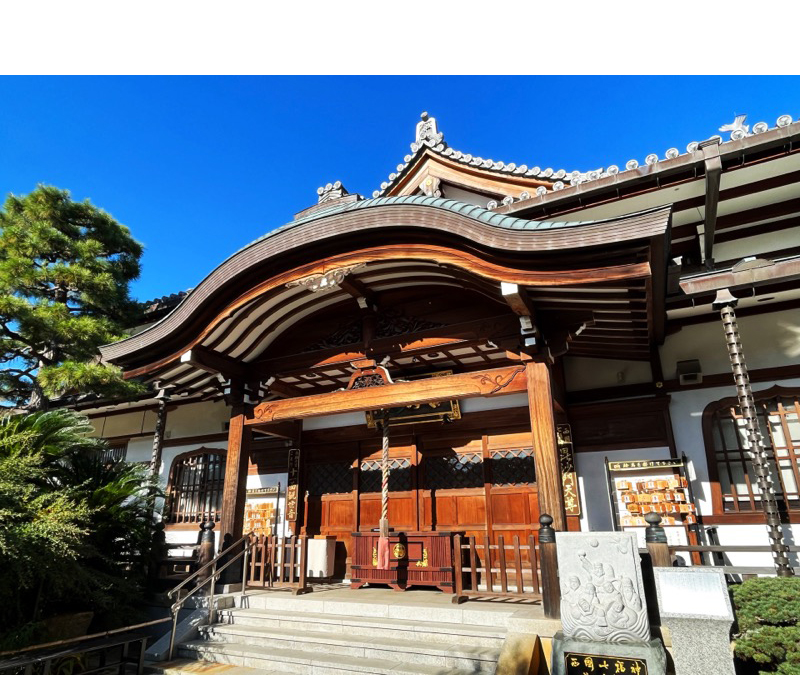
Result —
[{"label": "brown wooden railing beside white box, left of red offering box", "polygon": [[308,537],[254,535],[250,540],[248,586],[289,587],[299,595],[310,589],[306,579]]}]

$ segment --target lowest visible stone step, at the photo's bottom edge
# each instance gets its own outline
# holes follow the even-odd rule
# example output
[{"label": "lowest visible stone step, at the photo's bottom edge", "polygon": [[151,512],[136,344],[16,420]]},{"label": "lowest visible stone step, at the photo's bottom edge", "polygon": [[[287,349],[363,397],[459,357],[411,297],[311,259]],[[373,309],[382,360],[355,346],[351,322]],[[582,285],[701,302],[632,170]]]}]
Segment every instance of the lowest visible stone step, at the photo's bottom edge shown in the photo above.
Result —
[{"label": "lowest visible stone step, at the photo's bottom edge", "polygon": [[207,642],[196,640],[178,649],[184,658],[196,658],[209,663],[247,666],[281,673],[304,675],[343,675],[369,673],[372,675],[468,675],[473,670],[452,666],[408,663],[401,659],[382,659],[319,651],[282,649],[275,646],[256,646],[241,643]]}]

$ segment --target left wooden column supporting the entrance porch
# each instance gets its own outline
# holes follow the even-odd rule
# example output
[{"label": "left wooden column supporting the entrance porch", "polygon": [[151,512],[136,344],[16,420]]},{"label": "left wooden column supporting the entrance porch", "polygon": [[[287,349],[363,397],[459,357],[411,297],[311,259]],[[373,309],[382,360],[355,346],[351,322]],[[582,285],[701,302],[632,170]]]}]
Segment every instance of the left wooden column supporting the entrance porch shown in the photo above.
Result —
[{"label": "left wooden column supporting the entrance porch", "polygon": [[250,461],[252,430],[245,426],[245,406],[237,403],[231,409],[228,427],[228,456],[225,460],[225,487],[222,492],[220,531],[239,539],[244,527],[244,503],[247,498],[247,465]]}]

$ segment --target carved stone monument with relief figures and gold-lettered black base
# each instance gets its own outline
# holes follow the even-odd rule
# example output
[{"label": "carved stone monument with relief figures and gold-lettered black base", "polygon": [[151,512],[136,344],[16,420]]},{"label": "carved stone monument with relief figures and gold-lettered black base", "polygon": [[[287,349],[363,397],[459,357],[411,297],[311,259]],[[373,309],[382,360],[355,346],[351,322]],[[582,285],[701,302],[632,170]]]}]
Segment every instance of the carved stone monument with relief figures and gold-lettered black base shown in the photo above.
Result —
[{"label": "carved stone monument with relief figures and gold-lettered black base", "polygon": [[[636,536],[557,532],[562,631],[553,675],[664,675],[666,653],[650,633]],[[583,669],[583,670],[581,670]]]}]

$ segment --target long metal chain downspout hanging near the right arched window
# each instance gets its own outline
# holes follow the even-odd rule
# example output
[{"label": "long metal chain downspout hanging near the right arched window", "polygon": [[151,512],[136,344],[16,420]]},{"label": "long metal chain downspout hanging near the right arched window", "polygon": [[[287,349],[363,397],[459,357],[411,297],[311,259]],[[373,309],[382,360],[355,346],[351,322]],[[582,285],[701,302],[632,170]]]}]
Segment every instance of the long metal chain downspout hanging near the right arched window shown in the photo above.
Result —
[{"label": "long metal chain downspout hanging near the right arched window", "polygon": [[726,288],[717,291],[713,308],[718,309],[725,329],[725,341],[728,344],[728,355],[731,359],[733,379],[736,384],[736,394],[739,399],[739,408],[742,411],[747,427],[747,439],[750,443],[750,461],[758,480],[758,489],[761,496],[761,508],[767,518],[767,533],[772,547],[772,557],[775,562],[775,571],[778,576],[790,577],[794,572],[789,564],[788,549],[783,542],[781,519],[778,514],[778,502],[772,487],[769,464],[767,462],[764,440],[758,425],[753,391],[750,388],[750,377],[747,374],[747,365],[744,361],[742,342],[739,337],[739,327],[736,324],[736,314],[733,308],[738,300]]}]

